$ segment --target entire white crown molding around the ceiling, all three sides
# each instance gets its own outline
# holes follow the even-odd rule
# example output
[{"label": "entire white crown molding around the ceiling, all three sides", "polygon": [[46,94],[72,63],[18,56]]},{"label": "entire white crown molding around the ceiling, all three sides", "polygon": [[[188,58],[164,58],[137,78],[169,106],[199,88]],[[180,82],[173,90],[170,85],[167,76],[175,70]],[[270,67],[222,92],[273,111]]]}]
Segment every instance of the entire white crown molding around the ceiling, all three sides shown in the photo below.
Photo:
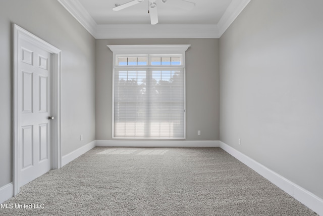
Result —
[{"label": "entire white crown molding around the ceiling, all three sides", "polygon": [[78,0],[57,0],[96,39],[220,38],[250,0],[232,0],[218,24],[98,25]]}]

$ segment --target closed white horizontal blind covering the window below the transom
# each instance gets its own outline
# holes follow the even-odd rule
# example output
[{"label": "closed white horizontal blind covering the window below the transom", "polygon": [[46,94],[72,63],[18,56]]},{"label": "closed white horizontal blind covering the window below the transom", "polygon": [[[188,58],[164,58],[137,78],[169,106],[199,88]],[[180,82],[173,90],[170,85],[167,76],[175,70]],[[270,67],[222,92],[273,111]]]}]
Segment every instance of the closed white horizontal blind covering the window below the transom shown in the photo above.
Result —
[{"label": "closed white horizontal blind covering the window below the transom", "polygon": [[184,138],[184,68],[115,68],[114,138]]}]

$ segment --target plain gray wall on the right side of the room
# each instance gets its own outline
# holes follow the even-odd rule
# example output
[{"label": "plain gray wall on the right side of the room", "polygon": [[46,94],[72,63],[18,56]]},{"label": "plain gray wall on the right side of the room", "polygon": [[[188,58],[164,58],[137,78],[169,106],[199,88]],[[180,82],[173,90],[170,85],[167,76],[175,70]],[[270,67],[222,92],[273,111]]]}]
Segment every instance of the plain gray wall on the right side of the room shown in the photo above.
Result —
[{"label": "plain gray wall on the right side of the room", "polygon": [[220,38],[220,140],[320,198],[322,8],[251,1]]}]

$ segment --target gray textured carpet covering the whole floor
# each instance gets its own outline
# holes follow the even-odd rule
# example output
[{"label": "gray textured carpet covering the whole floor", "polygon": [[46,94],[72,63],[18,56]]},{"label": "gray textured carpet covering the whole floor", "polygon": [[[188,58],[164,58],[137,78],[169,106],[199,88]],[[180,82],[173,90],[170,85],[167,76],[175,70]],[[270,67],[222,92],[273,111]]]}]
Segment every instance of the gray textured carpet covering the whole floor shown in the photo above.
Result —
[{"label": "gray textured carpet covering the whole floor", "polygon": [[317,215],[220,148],[96,147],[5,204],[1,215]]}]

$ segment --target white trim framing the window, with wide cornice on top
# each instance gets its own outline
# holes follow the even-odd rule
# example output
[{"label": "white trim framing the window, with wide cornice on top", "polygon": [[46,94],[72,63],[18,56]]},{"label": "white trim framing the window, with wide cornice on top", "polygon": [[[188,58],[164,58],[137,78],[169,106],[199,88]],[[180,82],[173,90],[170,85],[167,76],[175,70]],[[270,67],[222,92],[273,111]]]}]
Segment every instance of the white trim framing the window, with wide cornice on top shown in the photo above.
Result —
[{"label": "white trim framing the window, with wide cornice on top", "polygon": [[[107,47],[113,52],[113,86],[112,86],[112,138],[113,139],[144,139],[144,140],[183,140],[186,139],[186,61],[185,52],[191,45],[107,45]],[[125,66],[116,65],[116,55],[182,55],[182,65],[178,65],[184,68],[184,137],[183,138],[116,138],[114,137],[114,106],[115,106],[115,68],[122,68]],[[148,59],[148,65],[132,65],[135,67],[170,67],[170,65],[149,65],[150,59]],[[126,65],[129,67],[129,65]],[[173,66],[176,68],[176,66]]]}]

